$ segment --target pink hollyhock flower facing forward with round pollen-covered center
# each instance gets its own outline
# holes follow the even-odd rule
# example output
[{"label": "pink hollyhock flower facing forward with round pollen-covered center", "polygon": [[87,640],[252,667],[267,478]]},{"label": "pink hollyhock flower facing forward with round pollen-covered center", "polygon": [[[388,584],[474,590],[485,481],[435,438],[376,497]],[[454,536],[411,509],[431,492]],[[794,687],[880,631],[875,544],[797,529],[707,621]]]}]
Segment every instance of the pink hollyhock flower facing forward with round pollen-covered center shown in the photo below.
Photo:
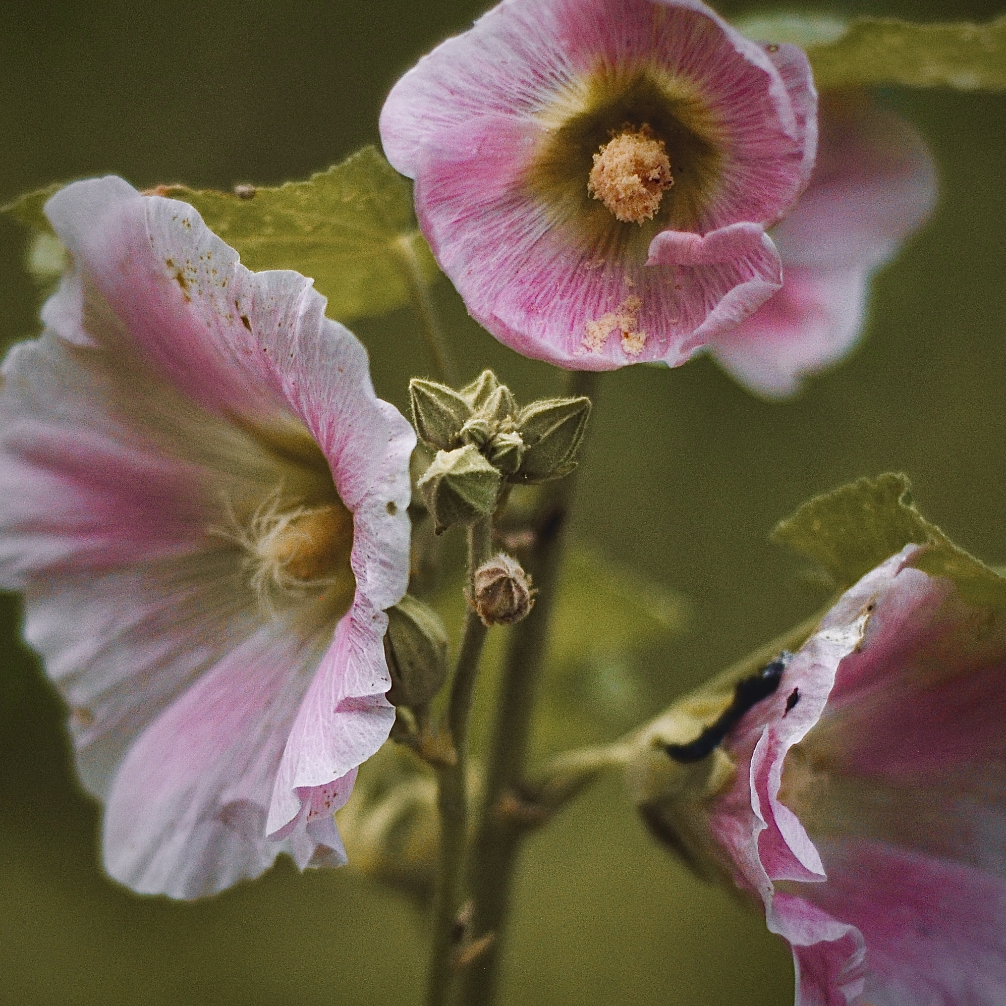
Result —
[{"label": "pink hollyhock flower facing forward with round pollen-covered center", "polygon": [[503,0],[380,130],[473,317],[607,370],[683,363],[779,289],[766,228],[807,184],[816,105],[800,49],[698,0]]}]

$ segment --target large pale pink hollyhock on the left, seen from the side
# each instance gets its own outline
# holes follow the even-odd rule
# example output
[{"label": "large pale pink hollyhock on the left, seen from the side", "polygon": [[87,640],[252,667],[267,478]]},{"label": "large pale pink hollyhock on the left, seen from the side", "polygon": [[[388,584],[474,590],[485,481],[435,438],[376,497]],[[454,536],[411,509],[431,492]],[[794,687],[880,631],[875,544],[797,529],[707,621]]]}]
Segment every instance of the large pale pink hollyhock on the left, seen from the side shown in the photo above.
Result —
[{"label": "large pale pink hollyhock on the left, seen from the side", "polygon": [[190,898],[345,862],[393,710],[409,425],[292,272],[119,178],[46,213],[71,269],[0,392],[0,581],[70,707],[105,865]]}]

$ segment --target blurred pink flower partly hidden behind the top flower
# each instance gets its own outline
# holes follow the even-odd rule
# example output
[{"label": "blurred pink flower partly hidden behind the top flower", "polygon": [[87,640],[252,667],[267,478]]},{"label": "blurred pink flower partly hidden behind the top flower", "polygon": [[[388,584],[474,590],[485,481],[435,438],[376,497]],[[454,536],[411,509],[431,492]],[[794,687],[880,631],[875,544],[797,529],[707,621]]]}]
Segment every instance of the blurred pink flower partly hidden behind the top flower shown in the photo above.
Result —
[{"label": "blurred pink flower partly hidden behind the top flower", "polygon": [[783,289],[709,340],[715,359],[770,398],[837,362],[862,332],[870,277],[936,203],[933,157],[918,132],[865,95],[822,100],[817,164],[772,236]]}]

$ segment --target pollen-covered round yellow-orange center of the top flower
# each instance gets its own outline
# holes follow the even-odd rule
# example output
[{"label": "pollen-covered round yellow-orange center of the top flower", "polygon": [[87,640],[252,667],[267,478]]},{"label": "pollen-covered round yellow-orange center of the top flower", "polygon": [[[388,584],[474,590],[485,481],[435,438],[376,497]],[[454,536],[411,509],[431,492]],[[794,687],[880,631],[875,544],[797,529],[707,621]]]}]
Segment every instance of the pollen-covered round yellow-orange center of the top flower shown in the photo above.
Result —
[{"label": "pollen-covered round yellow-orange center of the top flower", "polygon": [[594,155],[586,191],[616,219],[642,224],[660,208],[664,191],[674,184],[663,140],[649,126],[624,127]]}]

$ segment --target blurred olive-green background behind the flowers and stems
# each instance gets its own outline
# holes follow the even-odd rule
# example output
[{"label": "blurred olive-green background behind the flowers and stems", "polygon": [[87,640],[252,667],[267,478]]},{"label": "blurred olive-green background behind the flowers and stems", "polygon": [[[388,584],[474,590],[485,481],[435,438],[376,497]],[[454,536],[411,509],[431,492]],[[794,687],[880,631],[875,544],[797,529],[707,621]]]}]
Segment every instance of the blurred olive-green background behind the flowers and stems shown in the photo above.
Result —
[{"label": "blurred olive-green background behind the flowers and stems", "polygon": [[[7,3],[0,203],[109,171],[141,187],[304,177],[375,140],[396,76],[481,9],[476,0]],[[983,20],[999,5],[822,9]],[[642,661],[584,668],[597,678],[596,735],[616,734],[812,610],[820,594],[767,532],[817,491],[904,470],[931,519],[979,556],[1006,560],[1006,97],[882,99],[929,136],[943,197],[877,280],[855,357],[787,404],[751,398],[706,360],[626,368],[604,382],[575,536],[682,593],[694,618]],[[37,331],[23,250],[24,235],[0,219],[4,343]],[[524,398],[553,385],[547,367],[468,322],[446,283],[437,295],[467,371],[492,365]],[[429,369],[409,313],[355,327],[378,392],[402,404],[408,376]],[[15,599],[0,599],[0,1001],[418,1001],[422,916],[351,868],[298,876],[281,862],[196,904],[110,882],[99,812],[74,786],[63,711],[18,642]],[[506,1003],[793,1001],[788,951],[655,846],[617,783],[529,843],[517,902]]]}]

